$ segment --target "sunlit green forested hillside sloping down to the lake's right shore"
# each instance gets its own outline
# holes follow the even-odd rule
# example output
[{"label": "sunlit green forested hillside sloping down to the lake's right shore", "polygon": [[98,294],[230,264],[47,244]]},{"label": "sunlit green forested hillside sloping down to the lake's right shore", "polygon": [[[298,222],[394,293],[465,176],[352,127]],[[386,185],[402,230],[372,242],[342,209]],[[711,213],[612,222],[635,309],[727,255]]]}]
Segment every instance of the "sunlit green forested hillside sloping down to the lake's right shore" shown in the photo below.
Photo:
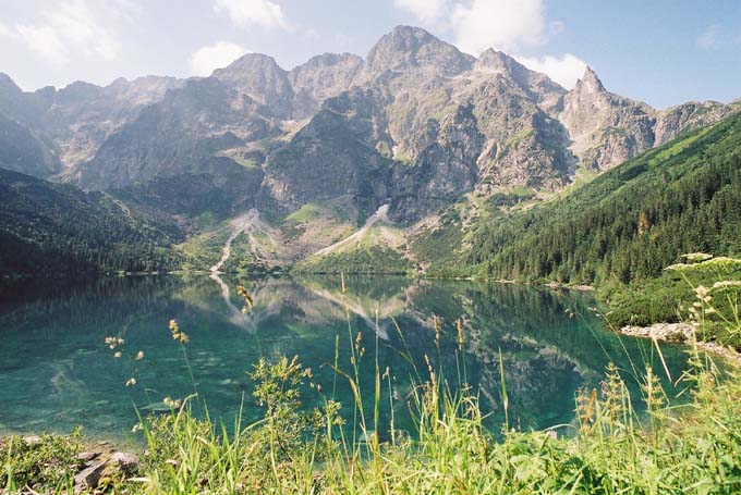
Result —
[{"label": "sunlit green forested hillside sloping down to the lake's right shore", "polygon": [[687,252],[741,252],[741,116],[689,133],[560,199],[477,226],[479,275],[563,283],[653,277]]}]

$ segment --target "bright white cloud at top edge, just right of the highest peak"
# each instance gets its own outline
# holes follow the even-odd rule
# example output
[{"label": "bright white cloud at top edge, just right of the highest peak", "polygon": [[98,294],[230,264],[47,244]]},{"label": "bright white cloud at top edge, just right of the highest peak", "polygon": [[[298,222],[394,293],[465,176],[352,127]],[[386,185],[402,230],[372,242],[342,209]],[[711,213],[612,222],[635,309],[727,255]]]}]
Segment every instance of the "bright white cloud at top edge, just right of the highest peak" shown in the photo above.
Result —
[{"label": "bright white cloud at top edge, just right of the highest peak", "polygon": [[473,0],[453,7],[455,45],[478,55],[487,48],[512,51],[539,44],[544,27],[543,0]]}]

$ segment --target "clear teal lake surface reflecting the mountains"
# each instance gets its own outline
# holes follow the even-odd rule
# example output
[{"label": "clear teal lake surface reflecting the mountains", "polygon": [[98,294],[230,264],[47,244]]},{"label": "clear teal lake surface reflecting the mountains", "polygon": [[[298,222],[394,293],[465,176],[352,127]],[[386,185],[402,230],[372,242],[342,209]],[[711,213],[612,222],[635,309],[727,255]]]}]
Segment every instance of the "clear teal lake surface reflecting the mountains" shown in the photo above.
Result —
[{"label": "clear teal lake surface reflecting the mountains", "polygon": [[[238,284],[254,297],[246,314],[240,311]],[[171,319],[190,336],[187,362],[210,416],[227,423],[241,404],[247,421],[259,417],[247,372],[260,356],[297,355],[314,370],[323,394],[329,397],[333,389],[351,414],[350,386],[330,364],[337,351],[339,367],[352,370],[350,349],[359,332],[366,349],[360,369],[368,407],[376,342],[379,369],[388,367],[392,378],[392,389],[382,387],[384,397],[393,398],[392,406],[381,403],[381,421],[393,407],[403,428],[412,364],[424,380],[427,356],[451,387],[465,382],[479,392],[493,428],[503,420],[500,357],[511,422],[535,429],[569,423],[578,391],[599,386],[609,361],[624,370],[635,395],[632,363],[642,370],[644,362],[654,362],[665,374],[651,343],[604,330],[590,310],[594,306],[588,294],[576,292],[403,277],[349,277],[344,295],[335,276],[149,276],[84,287],[11,287],[0,293],[0,432],[70,432],[81,424],[93,436],[125,437],[136,422],[135,407],[158,409],[166,396],[193,393],[183,349],[168,330]],[[437,346],[433,315],[441,321]],[[458,351],[459,318],[463,352]],[[106,346],[107,336],[125,341],[121,358]],[[137,361],[138,351],[144,358]],[[678,378],[683,350],[664,346],[663,352]],[[125,386],[130,378],[136,385]],[[321,400],[306,387],[305,404]]]}]

